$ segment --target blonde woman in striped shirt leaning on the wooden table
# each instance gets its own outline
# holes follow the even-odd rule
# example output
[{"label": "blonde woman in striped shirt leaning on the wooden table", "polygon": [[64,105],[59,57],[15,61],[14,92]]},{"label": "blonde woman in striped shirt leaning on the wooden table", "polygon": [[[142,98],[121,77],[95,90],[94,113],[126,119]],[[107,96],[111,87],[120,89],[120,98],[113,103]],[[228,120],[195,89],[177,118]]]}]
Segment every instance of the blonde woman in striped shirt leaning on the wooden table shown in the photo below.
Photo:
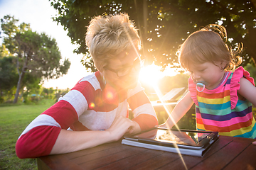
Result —
[{"label": "blonde woman in striped shirt leaning on the wooden table", "polygon": [[[143,61],[139,35],[129,16],[93,18],[85,40],[98,71],[82,78],[28,125],[16,142],[19,158],[75,152],[158,125],[138,82]],[[128,104],[133,120],[128,118]]]}]

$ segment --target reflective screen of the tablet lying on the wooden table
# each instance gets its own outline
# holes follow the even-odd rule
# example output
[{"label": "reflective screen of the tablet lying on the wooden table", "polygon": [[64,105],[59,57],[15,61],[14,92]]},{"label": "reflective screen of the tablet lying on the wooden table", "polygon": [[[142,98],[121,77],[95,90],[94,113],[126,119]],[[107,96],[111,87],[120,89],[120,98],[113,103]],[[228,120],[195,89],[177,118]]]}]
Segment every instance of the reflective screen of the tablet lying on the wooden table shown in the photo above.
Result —
[{"label": "reflective screen of the tablet lying on the wooden table", "polygon": [[155,129],[135,137],[142,137],[161,142],[170,142],[178,144],[197,145],[203,138],[210,135],[208,132],[188,132],[178,130]]}]

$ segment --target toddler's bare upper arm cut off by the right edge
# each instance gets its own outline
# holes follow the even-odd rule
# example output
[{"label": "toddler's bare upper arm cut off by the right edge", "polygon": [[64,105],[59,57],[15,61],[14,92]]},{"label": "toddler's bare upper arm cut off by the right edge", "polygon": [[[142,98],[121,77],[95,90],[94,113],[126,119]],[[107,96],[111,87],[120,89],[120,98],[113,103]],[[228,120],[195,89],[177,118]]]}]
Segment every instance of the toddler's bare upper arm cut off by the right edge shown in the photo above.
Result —
[{"label": "toddler's bare upper arm cut off by the right edge", "polygon": [[240,89],[238,90],[238,94],[242,95],[250,101],[250,103],[256,106],[256,87],[244,77],[240,79]]}]

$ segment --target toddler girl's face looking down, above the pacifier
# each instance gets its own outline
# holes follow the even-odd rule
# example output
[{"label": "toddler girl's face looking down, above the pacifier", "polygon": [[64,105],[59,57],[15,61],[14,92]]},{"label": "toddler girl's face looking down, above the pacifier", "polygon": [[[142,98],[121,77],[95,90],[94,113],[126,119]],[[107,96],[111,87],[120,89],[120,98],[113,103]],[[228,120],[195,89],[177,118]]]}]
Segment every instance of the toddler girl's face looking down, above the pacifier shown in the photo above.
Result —
[{"label": "toddler girl's face looking down, above the pacifier", "polygon": [[223,63],[204,62],[203,64],[189,64],[189,72],[194,82],[206,81],[206,89],[215,89],[222,81],[225,71],[220,69]]}]

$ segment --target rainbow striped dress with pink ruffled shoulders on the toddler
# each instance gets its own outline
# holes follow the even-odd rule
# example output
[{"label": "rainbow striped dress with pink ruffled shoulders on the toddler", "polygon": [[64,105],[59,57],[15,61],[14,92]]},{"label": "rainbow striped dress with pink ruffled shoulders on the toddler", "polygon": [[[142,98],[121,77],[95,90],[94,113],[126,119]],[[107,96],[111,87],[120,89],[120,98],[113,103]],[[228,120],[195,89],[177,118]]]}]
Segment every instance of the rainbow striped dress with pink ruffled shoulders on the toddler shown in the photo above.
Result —
[{"label": "rainbow striped dress with pink ruffled shoulders on the toddler", "polygon": [[[216,89],[196,90],[196,84],[188,79],[188,89],[196,104],[196,128],[219,132],[219,135],[256,138],[256,123],[252,115],[252,103],[238,99],[239,81],[245,77],[252,84],[253,79],[242,67],[228,72]],[[254,84],[255,86],[255,84]]]}]

